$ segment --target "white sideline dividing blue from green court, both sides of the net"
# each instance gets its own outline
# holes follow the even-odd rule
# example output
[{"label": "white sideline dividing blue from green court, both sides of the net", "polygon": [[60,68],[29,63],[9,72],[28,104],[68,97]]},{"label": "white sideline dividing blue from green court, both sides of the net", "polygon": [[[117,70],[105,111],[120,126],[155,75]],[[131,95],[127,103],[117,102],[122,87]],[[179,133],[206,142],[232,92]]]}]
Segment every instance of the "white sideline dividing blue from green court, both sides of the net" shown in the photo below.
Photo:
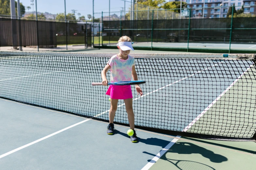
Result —
[{"label": "white sideline dividing blue from green court, both sides of the net", "polygon": [[[211,107],[213,106],[213,104],[215,104],[215,103],[217,102],[217,100],[219,100],[219,99],[221,98],[221,96],[223,96],[227,91],[230,90],[230,88],[248,71],[248,69],[251,68],[252,65],[253,65],[253,64],[251,64],[251,65],[246,69],[246,71],[244,71],[237,79],[235,79],[235,81],[234,81],[232,84],[230,84],[230,86],[229,86],[224,92],[222,92],[206,109],[204,109],[204,111],[203,111],[202,113],[200,113],[200,114],[196,117],[196,119],[194,119],[191,123],[189,123],[189,125],[186,126],[186,127],[182,130],[182,132],[186,132],[189,128],[191,128],[192,125],[193,125],[194,123],[196,123],[196,121],[199,120],[199,119],[209,110],[209,108],[211,108]],[[179,140],[180,137],[181,137],[181,136],[176,136],[176,138],[174,138],[174,139],[173,139],[164,149],[162,149],[149,163],[147,163],[147,164],[142,168],[142,170],[148,170],[151,166],[153,166],[153,164],[156,163],[157,160],[159,160],[159,159],[162,157],[162,155],[164,155],[165,152],[166,152],[167,150],[169,150],[169,149]],[[178,139],[177,139],[177,138],[178,138]]]}]

